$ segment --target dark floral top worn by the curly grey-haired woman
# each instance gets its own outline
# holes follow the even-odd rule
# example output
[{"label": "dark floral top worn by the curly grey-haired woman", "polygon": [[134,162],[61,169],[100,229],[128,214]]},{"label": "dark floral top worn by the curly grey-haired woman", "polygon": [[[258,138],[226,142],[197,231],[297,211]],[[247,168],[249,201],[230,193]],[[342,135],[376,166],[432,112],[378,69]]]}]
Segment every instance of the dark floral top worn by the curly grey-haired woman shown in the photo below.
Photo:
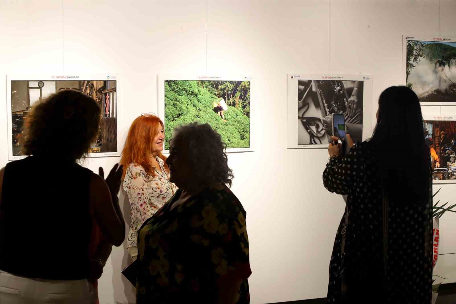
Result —
[{"label": "dark floral top worn by the curly grey-haired woman", "polygon": [[218,303],[220,286],[241,281],[250,301],[246,212],[227,186],[204,189],[171,210],[182,190],[138,232],[136,303]]}]

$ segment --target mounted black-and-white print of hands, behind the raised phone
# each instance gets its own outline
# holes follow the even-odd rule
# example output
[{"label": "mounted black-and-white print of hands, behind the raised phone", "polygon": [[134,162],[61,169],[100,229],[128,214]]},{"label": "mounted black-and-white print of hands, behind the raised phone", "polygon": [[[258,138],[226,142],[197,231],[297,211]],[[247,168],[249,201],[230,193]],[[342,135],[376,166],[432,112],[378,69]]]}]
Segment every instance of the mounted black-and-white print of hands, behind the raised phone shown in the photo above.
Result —
[{"label": "mounted black-and-white print of hands, behind the raised phone", "polygon": [[287,74],[287,79],[287,148],[328,147],[333,134],[350,134],[354,142],[370,134],[371,75]]}]

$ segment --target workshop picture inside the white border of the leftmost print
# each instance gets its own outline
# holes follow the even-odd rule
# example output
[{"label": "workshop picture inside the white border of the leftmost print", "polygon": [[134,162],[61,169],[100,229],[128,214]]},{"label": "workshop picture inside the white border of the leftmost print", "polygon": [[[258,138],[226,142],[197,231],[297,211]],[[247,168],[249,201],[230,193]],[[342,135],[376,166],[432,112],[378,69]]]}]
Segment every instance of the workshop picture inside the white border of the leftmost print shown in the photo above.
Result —
[{"label": "workshop picture inside the white border of the leftmost print", "polygon": [[102,109],[98,136],[89,153],[117,152],[116,85],[116,80],[11,80],[12,155],[22,155],[23,127],[31,107],[64,89],[81,91],[96,100]]}]

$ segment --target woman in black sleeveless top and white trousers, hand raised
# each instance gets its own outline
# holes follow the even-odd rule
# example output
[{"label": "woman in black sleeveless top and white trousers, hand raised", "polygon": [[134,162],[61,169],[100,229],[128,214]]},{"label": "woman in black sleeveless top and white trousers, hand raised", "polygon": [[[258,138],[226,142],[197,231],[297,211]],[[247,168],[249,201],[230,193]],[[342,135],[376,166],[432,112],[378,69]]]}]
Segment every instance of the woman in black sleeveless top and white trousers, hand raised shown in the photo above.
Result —
[{"label": "woman in black sleeveless top and white trousers, hand raised", "polygon": [[[100,176],[76,163],[100,117],[97,103],[75,90],[50,95],[27,115],[29,156],[0,170],[0,303],[95,300],[88,279],[96,282],[111,246],[125,238],[117,199],[122,167],[105,182],[102,168]],[[99,248],[95,229],[104,239]]]}]

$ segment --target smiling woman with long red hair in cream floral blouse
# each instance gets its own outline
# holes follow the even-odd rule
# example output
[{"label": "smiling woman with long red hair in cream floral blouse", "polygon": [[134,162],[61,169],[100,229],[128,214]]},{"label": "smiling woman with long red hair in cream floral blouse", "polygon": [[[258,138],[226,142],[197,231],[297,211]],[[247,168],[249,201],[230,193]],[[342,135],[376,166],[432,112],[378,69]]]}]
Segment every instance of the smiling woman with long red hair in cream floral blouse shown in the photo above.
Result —
[{"label": "smiling woman with long red hair in cream floral blouse", "polygon": [[141,225],[176,192],[163,151],[165,130],[155,115],[143,114],[130,126],[120,164],[124,165],[124,190],[131,205],[128,253],[136,259],[136,239]]}]

